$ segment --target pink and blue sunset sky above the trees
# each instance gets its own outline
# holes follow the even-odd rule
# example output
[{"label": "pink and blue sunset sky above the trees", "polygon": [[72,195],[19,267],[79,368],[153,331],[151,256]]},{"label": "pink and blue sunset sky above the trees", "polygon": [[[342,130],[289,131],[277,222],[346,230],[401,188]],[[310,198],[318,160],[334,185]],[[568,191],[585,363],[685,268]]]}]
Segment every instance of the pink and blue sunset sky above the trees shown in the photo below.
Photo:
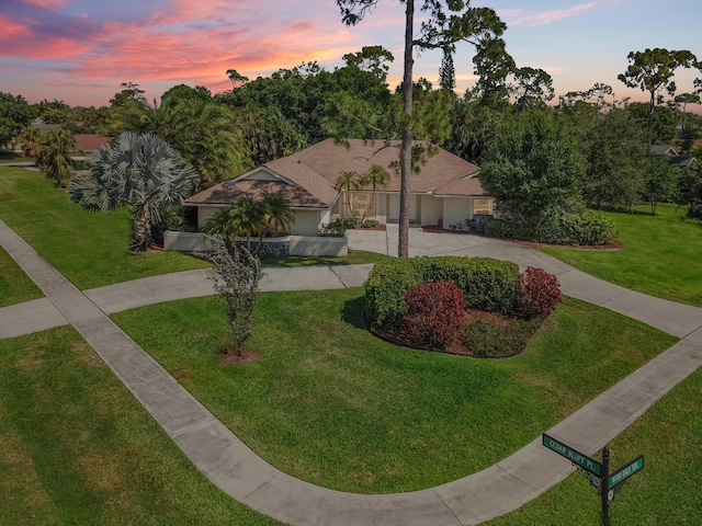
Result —
[{"label": "pink and blue sunset sky above the trees", "polygon": [[[421,3],[421,0],[418,1]],[[700,0],[492,0],[472,2],[507,23],[518,67],[546,70],[556,94],[610,84],[616,99],[646,100],[616,79],[629,52],[688,49],[702,59]],[[417,24],[418,26],[418,24]],[[122,82],[150,100],[185,83],[213,93],[231,88],[227,69],[250,78],[316,60],[328,70],[363,46],[395,55],[388,82],[401,78],[404,8],[380,0],[346,27],[333,0],[0,0],[0,91],[30,103],[107,105]],[[473,87],[473,49],[454,56],[457,91]],[[415,78],[438,81],[440,53],[416,57]],[[698,70],[676,73],[678,93]],[[699,110],[699,107],[698,107]]]}]

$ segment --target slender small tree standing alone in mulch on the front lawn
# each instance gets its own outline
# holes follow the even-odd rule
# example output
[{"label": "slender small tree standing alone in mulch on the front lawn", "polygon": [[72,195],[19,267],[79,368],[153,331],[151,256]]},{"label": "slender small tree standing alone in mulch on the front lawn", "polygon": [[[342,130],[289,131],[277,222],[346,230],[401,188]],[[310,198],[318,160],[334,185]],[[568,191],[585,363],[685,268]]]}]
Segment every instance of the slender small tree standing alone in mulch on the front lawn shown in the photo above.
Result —
[{"label": "slender small tree standing alone in mulch on the front lawn", "polygon": [[261,262],[246,248],[229,251],[222,236],[208,237],[214,251],[206,258],[214,264],[212,277],[215,293],[226,304],[227,321],[231,330],[234,353],[241,350],[251,338],[253,309],[256,308]]}]

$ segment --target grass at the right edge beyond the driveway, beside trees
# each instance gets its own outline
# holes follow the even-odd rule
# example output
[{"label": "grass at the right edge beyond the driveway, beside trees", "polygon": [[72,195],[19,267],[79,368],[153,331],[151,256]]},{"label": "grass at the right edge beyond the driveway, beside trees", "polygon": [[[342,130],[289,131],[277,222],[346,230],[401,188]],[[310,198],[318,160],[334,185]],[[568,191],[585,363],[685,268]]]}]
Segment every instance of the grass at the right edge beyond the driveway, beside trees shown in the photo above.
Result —
[{"label": "grass at the right edge beyond the driveway, beside trees", "polygon": [[660,298],[702,307],[702,224],[682,219],[684,209],[660,204],[657,215],[608,213],[616,225],[619,251],[543,249],[588,274]]}]

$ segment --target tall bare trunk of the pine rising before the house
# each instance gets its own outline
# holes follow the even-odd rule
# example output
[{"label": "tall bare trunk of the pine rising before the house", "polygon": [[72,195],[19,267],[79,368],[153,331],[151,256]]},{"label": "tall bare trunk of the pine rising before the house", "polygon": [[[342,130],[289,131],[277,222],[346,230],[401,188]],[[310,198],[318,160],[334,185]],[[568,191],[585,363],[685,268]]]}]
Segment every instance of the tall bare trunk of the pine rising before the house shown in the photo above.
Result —
[{"label": "tall bare trunk of the pine rising before the house", "polygon": [[[405,113],[412,114],[412,52],[414,52],[415,0],[407,0],[405,18],[405,75],[403,77],[403,98]],[[400,187],[399,187],[399,239],[398,258],[409,258],[409,204],[412,174],[412,132],[407,122],[403,130],[403,145],[399,152]]]}]

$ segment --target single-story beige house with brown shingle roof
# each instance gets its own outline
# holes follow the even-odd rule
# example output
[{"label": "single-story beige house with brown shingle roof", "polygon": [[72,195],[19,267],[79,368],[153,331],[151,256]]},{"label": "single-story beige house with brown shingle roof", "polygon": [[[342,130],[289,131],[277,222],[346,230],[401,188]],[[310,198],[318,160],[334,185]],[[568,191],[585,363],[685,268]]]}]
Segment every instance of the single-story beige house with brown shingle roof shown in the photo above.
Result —
[{"label": "single-story beige house with brown shingle roof", "polygon": [[[281,192],[295,213],[292,235],[317,236],[321,225],[337,217],[366,215],[381,222],[399,219],[400,178],[394,163],[399,159],[399,141],[384,147],[383,141],[350,139],[349,147],[333,139],[322,140],[288,157],[261,164],[229,181],[185,199],[197,209],[197,226],[210,215],[238,197]],[[335,188],[343,172],[363,174],[380,164],[390,174],[387,190],[365,187],[348,193]],[[410,220],[420,225],[465,224],[474,216],[491,216],[495,201],[480,185],[479,169],[446,150],[439,149],[412,175]],[[350,205],[350,208],[349,208]]]}]

